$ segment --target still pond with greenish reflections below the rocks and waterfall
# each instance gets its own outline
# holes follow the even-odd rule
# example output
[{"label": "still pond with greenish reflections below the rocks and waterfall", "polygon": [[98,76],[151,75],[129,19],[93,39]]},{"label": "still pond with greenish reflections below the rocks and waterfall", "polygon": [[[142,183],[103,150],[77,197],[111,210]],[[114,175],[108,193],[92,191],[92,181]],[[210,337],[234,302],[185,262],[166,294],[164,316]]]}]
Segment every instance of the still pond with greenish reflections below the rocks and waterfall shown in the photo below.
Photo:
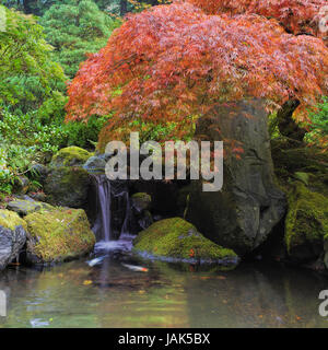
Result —
[{"label": "still pond with greenish reflections below the rocks and waterfall", "polygon": [[8,294],[0,328],[328,327],[318,313],[328,281],[314,272],[261,261],[233,271],[199,270],[142,261],[129,247],[129,237],[97,245],[103,258],[95,265],[85,258],[8,268],[0,275]]}]

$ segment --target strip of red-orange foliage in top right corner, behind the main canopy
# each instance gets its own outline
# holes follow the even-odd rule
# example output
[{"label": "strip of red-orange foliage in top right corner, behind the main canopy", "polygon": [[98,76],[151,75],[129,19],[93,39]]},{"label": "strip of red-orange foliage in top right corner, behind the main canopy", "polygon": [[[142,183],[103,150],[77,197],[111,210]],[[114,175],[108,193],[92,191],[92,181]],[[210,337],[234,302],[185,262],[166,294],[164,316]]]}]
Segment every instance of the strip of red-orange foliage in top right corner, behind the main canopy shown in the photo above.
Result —
[{"label": "strip of red-orange foliage in top right corner, behind the main canopy", "polygon": [[[307,33],[324,38],[319,31],[320,10],[327,0],[187,0],[208,14],[260,14],[277,19],[293,34]],[[326,13],[327,14],[327,13]]]}]

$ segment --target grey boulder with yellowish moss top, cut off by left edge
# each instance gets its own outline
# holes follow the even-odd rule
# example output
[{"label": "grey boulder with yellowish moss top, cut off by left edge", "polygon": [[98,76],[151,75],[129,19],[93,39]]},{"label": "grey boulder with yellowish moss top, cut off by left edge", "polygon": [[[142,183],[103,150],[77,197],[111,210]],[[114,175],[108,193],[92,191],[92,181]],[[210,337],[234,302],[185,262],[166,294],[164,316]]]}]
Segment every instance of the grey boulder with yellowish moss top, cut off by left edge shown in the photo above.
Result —
[{"label": "grey boulder with yellowish moss top, cut off by left edge", "polygon": [[16,258],[26,242],[26,222],[15,212],[0,210],[0,270]]}]

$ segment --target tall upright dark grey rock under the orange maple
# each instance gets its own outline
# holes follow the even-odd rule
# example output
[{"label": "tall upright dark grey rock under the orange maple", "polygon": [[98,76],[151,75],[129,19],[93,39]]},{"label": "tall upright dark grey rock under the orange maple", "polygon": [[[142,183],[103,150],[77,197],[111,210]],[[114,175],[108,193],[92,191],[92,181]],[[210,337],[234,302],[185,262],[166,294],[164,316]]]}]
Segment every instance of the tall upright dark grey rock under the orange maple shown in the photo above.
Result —
[{"label": "tall upright dark grey rock under the orange maple", "polygon": [[237,141],[241,159],[227,152],[223,188],[202,191],[202,180],[191,184],[186,212],[204,236],[244,255],[266,241],[285,212],[284,194],[274,185],[267,112],[260,100],[215,106],[199,119],[196,139]]}]

